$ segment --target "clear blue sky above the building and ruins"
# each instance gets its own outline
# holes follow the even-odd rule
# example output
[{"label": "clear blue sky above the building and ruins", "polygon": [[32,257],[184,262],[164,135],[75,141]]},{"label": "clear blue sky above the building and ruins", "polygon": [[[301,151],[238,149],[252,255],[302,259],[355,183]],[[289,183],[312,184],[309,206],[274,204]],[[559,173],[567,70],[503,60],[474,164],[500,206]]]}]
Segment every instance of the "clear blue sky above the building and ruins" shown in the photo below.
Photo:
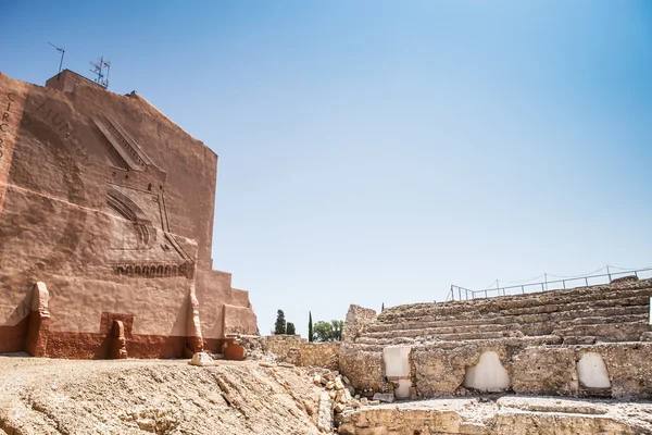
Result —
[{"label": "clear blue sky above the building and ruins", "polygon": [[0,71],[43,84],[48,41],[220,156],[263,334],[652,265],[651,1],[0,0]]}]

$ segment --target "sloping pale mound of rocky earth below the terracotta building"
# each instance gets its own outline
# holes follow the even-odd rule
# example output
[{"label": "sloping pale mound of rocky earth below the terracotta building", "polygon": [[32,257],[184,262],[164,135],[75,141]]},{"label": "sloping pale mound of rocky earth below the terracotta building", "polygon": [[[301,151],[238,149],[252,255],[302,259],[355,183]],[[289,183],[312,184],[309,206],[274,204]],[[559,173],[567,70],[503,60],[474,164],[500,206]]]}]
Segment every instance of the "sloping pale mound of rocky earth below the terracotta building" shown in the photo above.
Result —
[{"label": "sloping pale mound of rocky earth below the terracotta building", "polygon": [[0,356],[0,434],[318,434],[312,380],[258,361]]}]

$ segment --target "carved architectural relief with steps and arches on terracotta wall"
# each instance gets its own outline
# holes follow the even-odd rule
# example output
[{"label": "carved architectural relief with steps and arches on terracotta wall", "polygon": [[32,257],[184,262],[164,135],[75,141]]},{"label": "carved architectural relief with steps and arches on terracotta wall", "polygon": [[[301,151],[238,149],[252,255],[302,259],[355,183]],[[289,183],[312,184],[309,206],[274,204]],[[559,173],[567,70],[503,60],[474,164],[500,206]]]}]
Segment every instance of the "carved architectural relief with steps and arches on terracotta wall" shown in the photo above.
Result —
[{"label": "carved architectural relief with steps and arches on terracotta wall", "polygon": [[127,277],[192,278],[195,261],[170,232],[165,204],[167,174],[129,134],[109,116],[93,119],[110,166],[106,187],[113,235],[114,273]]}]

